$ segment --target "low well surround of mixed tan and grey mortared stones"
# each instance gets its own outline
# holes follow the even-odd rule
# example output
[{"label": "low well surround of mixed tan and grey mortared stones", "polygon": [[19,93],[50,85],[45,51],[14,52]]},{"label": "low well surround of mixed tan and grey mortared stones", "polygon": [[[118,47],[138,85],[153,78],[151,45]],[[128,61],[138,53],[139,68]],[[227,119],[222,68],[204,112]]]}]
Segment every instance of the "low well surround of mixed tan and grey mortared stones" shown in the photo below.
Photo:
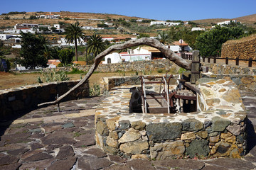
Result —
[{"label": "low well surround of mixed tan and grey mortared stones", "polygon": [[[128,83],[118,84],[120,79]],[[95,113],[95,139],[105,152],[132,159],[239,158],[245,154],[247,114],[233,81],[199,79],[197,112],[146,114],[132,113],[138,85],[131,80],[137,82],[134,77],[102,80],[102,86],[112,87]]]}]

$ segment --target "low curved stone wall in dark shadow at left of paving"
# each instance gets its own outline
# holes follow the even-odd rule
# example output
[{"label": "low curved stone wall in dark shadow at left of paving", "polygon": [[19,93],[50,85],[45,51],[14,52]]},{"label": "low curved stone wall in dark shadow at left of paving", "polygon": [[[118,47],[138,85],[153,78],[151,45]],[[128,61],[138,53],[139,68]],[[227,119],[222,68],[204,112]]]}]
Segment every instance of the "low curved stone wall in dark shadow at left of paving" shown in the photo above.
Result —
[{"label": "low curved stone wall in dark shadow at left of paving", "polygon": [[[0,91],[0,119],[12,119],[27,110],[37,108],[39,103],[55,101],[57,94],[65,94],[69,89],[78,84],[78,81],[62,81],[49,84],[36,84],[22,86],[16,89]],[[71,93],[63,101],[85,98],[90,96],[89,83],[78,89],[78,94]]]}]

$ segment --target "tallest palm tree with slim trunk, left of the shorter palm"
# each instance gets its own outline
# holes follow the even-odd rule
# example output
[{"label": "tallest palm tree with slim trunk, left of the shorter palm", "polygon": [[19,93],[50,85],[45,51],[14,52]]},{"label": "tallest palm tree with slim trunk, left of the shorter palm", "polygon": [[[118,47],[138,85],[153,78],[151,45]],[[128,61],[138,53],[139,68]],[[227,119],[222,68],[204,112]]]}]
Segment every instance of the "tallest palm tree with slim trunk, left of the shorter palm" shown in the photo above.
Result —
[{"label": "tallest palm tree with slim trunk, left of the shorter palm", "polygon": [[79,23],[70,24],[65,28],[65,39],[69,42],[75,42],[75,60],[78,61],[78,42],[81,42],[81,39],[85,38],[85,34],[82,33],[82,26],[79,26]]}]

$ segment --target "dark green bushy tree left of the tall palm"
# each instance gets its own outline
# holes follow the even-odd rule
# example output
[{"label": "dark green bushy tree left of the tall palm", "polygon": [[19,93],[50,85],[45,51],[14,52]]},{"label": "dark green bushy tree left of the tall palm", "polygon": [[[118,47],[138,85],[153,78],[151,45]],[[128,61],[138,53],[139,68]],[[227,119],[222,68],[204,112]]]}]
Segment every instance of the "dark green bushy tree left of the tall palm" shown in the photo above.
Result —
[{"label": "dark green bushy tree left of the tall palm", "polygon": [[44,45],[47,44],[46,38],[41,35],[22,32],[21,38],[21,58],[17,59],[18,63],[29,69],[46,67],[48,60],[43,56]]}]

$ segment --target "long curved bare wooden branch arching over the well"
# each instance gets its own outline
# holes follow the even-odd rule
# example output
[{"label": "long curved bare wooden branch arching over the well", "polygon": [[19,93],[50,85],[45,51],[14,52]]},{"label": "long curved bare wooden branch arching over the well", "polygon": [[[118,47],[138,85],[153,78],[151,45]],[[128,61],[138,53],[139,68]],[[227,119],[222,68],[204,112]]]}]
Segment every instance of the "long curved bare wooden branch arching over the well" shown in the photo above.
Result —
[{"label": "long curved bare wooden branch arching over the well", "polygon": [[102,61],[102,58],[105,57],[106,55],[110,54],[110,52],[116,51],[116,50],[123,50],[127,47],[134,47],[138,45],[149,45],[151,47],[155,47],[156,49],[160,50],[163,54],[164,57],[169,59],[171,62],[176,63],[179,67],[182,67],[184,69],[191,70],[191,62],[188,60],[183,60],[181,57],[176,55],[173,51],[171,51],[168,47],[163,45],[159,40],[153,39],[153,38],[140,38],[138,40],[129,40],[127,42],[124,42],[124,44],[119,44],[119,45],[112,45],[107,50],[101,52],[97,57],[95,57],[95,62],[92,64],[92,67],[90,67],[89,72],[85,75],[85,77],[75,86],[73,86],[72,89],[67,91],[65,94],[60,96],[58,99],[55,101],[50,101],[46,103],[41,103],[38,104],[38,106],[44,106],[44,105],[51,105],[51,104],[57,104],[59,103],[65,96],[68,96],[71,92],[75,91],[75,89],[78,88],[78,86],[81,86],[82,84],[87,81],[87,79],[90,78],[92,73],[95,71],[97,66],[100,64]]}]

